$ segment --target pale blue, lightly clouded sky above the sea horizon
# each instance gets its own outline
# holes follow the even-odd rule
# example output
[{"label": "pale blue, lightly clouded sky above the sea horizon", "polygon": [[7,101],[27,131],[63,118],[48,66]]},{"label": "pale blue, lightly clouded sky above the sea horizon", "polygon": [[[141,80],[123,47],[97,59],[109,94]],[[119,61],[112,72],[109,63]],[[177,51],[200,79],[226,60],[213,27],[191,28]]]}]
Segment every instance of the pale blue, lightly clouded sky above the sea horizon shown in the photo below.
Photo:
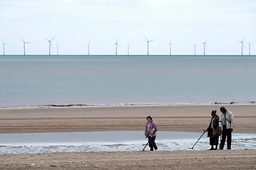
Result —
[{"label": "pale blue, lightly clouded sky above the sea horizon", "polygon": [[[255,0],[0,0],[5,54],[256,54]],[[0,44],[3,54],[3,44]]]}]

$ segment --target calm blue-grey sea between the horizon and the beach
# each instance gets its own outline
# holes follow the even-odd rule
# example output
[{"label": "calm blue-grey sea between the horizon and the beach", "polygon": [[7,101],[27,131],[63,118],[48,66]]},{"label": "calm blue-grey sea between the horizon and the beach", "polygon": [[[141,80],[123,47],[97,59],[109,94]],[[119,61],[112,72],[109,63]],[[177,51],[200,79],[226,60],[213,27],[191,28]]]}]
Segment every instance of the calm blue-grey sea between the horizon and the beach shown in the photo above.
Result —
[{"label": "calm blue-grey sea between the horizon and the beach", "polygon": [[0,107],[248,103],[256,56],[1,56]]}]

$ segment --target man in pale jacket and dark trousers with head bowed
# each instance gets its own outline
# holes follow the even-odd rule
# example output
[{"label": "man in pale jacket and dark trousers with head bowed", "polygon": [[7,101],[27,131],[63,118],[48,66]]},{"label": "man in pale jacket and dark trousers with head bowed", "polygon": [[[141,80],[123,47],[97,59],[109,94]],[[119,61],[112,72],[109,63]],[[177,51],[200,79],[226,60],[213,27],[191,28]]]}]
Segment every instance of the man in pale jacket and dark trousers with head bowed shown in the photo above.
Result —
[{"label": "man in pale jacket and dark trousers with head bowed", "polygon": [[223,150],[224,148],[226,137],[227,137],[227,149],[231,150],[232,131],[234,128],[234,116],[232,112],[228,111],[225,107],[220,107],[220,111],[221,111],[221,115],[220,115],[219,125],[220,125],[220,130],[222,130],[220,150]]}]

